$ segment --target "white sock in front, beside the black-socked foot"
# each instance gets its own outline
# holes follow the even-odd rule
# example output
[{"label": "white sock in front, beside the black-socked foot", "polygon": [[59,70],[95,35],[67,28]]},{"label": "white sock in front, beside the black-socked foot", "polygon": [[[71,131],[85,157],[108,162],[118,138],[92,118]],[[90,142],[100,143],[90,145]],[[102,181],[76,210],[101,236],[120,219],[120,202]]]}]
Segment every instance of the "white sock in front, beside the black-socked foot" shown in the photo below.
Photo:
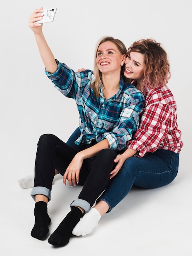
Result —
[{"label": "white sock in front, beside the black-socked foot", "polygon": [[86,236],[91,233],[94,227],[97,227],[100,217],[99,211],[91,208],[74,227],[72,234],[75,236]]}]

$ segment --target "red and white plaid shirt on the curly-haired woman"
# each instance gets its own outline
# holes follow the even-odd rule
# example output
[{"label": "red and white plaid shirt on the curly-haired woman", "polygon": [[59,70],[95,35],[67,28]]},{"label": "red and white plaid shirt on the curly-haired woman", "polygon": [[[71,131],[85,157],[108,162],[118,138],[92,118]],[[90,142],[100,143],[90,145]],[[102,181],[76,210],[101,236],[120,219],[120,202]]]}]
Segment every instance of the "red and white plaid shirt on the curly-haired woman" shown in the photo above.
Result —
[{"label": "red and white plaid shirt on the curly-haired woman", "polygon": [[134,139],[129,141],[127,148],[138,150],[137,157],[158,148],[179,153],[183,141],[181,130],[178,129],[176,102],[167,86],[144,89],[145,106],[141,112],[141,121]]}]

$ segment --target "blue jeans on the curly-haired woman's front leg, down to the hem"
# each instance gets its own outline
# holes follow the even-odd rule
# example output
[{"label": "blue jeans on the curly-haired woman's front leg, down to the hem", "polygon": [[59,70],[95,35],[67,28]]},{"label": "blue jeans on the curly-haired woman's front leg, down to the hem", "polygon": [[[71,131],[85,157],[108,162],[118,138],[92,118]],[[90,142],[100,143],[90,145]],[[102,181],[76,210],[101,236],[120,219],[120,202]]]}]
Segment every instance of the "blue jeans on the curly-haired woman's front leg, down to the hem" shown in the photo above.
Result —
[{"label": "blue jeans on the curly-haired woman's front leg, down to the hem", "polygon": [[[133,185],[154,189],[172,182],[177,175],[179,154],[158,149],[144,157],[126,159],[121,170],[98,198],[107,202],[111,211],[129,193]],[[109,212],[108,211],[108,212]]]}]

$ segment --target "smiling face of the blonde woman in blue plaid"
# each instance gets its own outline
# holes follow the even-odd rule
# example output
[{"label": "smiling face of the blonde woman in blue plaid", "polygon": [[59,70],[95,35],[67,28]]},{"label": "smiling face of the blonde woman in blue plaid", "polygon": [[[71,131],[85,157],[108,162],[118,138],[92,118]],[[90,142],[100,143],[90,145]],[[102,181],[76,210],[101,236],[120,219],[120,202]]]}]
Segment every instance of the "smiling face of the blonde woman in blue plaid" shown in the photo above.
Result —
[{"label": "smiling face of the blonde woman in blue plaid", "polygon": [[[123,61],[123,62],[122,62]],[[101,43],[97,50],[96,63],[103,74],[121,72],[121,63],[125,62],[125,54],[121,54],[115,43]]]}]

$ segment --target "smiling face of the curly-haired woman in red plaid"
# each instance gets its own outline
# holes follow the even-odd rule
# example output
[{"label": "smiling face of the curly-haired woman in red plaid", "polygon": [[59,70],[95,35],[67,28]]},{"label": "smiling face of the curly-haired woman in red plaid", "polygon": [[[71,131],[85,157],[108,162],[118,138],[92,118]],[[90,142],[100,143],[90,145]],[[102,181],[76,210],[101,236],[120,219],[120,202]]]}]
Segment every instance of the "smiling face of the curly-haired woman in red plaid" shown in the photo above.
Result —
[{"label": "smiling face of the curly-haired woman in red plaid", "polygon": [[141,81],[144,78],[144,70],[144,55],[139,52],[130,52],[125,61],[125,77]]}]

